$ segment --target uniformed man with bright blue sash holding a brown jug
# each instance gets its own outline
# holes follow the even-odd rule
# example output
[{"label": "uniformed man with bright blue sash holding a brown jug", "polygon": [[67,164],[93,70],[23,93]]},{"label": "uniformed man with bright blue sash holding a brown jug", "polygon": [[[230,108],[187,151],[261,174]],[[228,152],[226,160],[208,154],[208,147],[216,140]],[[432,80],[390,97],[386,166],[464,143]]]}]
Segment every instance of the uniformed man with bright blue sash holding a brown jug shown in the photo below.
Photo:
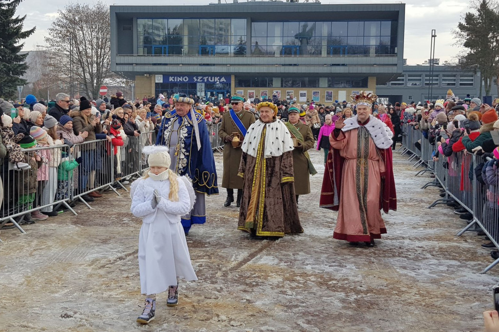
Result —
[{"label": "uniformed man with bright blue sash holding a brown jug", "polygon": [[[246,137],[248,128],[255,121],[253,113],[246,111],[243,108],[243,103],[243,96],[232,96],[232,110],[226,112],[222,117],[222,124],[219,130],[219,136],[225,142],[222,186],[227,188],[227,199],[224,203],[226,207],[234,202],[234,189],[238,189],[237,207],[241,206],[241,197],[243,197],[243,179],[238,176],[239,163],[243,154],[241,145]],[[240,143],[233,144],[234,139]]]}]

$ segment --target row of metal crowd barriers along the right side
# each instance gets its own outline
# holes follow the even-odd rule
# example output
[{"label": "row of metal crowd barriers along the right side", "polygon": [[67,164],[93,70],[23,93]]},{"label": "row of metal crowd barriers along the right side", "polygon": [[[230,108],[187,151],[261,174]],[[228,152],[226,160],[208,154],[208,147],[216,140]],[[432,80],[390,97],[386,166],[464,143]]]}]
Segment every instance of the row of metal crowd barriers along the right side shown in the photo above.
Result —
[{"label": "row of metal crowd barriers along the right side", "polygon": [[[431,145],[422,131],[409,124],[403,125],[402,133],[399,151],[411,160],[418,159],[414,167],[424,167],[416,175],[431,172],[435,176],[423,188],[438,186],[445,190],[445,196],[436,199],[428,208],[457,202],[472,215],[469,224],[457,235],[483,231],[499,249],[499,176],[497,166],[488,167],[495,161],[466,150],[454,152],[449,157],[439,154],[438,145]],[[499,259],[496,259],[481,273],[488,272],[498,263]]]}]

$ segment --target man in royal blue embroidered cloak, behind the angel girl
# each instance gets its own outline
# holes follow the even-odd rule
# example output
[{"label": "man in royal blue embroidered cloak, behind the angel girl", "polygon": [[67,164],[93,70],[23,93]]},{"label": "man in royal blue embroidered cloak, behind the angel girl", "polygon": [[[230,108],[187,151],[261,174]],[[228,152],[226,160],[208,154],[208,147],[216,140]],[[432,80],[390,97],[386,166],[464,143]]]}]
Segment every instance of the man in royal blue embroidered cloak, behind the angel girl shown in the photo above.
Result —
[{"label": "man in royal blue embroidered cloak, behind the angel girl", "polygon": [[176,94],[173,100],[175,108],[161,121],[156,144],[169,147],[170,169],[187,175],[196,191],[193,209],[181,220],[187,235],[192,224],[206,222],[205,194],[218,194],[217,171],[206,121],[194,111],[194,100],[185,94]]}]

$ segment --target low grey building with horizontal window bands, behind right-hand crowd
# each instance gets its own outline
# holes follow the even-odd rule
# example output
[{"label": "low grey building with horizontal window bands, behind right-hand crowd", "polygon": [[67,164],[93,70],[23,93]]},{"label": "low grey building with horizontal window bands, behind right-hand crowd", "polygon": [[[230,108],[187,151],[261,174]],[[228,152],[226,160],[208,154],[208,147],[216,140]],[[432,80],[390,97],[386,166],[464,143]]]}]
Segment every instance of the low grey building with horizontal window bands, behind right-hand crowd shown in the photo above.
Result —
[{"label": "low grey building with horizontal window bands, behind right-hand crowd", "polygon": [[452,65],[406,65],[402,73],[387,83],[377,83],[376,93],[384,102],[408,102],[446,99],[447,91],[464,99],[480,97],[480,71],[463,71]]}]

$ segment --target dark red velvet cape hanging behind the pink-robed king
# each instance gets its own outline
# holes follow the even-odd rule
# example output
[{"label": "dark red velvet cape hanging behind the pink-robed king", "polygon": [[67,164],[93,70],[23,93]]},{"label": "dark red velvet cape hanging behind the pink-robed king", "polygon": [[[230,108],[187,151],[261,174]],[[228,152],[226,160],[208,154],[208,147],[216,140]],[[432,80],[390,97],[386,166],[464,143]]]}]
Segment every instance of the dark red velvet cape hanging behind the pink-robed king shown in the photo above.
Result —
[{"label": "dark red velvet cape hanging behind the pink-robed king", "polygon": [[[397,194],[395,192],[395,180],[393,179],[392,149],[376,149],[385,162],[385,172],[380,174],[381,193],[379,208],[383,209],[385,213],[388,213],[389,210],[396,211]],[[331,147],[327,155],[326,168],[324,169],[324,177],[322,179],[320,207],[338,211],[344,162],[345,159],[340,156],[340,151]]]}]

